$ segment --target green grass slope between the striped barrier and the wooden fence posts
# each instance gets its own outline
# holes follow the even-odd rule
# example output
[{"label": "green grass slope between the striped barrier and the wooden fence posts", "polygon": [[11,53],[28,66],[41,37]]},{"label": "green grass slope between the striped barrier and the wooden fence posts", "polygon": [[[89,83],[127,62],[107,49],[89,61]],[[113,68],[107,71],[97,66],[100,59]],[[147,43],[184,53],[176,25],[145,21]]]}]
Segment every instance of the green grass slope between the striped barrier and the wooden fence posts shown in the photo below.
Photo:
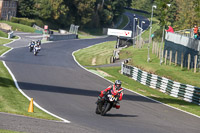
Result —
[{"label": "green grass slope between the striped barrier and the wooden fence posts", "polygon": [[[147,44],[146,44],[147,45]],[[151,45],[152,46],[152,45]],[[180,66],[160,65],[160,59],[151,52],[150,47],[150,62],[147,62],[148,49],[144,46],[142,49],[129,47],[120,52],[120,58],[131,58],[130,65],[136,66],[142,70],[154,73],[174,81],[200,87],[200,73],[194,73],[192,70],[181,69]],[[164,59],[163,59],[164,60]]]}]

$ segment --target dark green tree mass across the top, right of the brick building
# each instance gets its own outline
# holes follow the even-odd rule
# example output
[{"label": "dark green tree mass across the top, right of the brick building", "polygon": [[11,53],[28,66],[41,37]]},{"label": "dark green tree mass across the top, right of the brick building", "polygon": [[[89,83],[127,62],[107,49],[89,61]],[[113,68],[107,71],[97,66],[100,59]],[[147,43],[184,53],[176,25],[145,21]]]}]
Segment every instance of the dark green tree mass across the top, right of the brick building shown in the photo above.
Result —
[{"label": "dark green tree mass across the top, right of the brick building", "polygon": [[18,17],[40,19],[59,27],[109,27],[130,0],[19,0]]}]

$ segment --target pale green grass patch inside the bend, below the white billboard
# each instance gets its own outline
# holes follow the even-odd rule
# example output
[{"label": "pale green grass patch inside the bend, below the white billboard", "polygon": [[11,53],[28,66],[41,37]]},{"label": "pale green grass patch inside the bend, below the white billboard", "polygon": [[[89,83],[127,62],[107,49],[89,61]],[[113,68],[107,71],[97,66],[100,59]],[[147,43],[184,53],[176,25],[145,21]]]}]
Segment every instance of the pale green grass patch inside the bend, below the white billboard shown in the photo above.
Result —
[{"label": "pale green grass patch inside the bend, below the white billboard", "polygon": [[109,64],[110,57],[112,56],[115,45],[116,42],[112,41],[95,45],[90,48],[84,48],[79,50],[79,52],[76,52],[75,57],[79,57],[77,58],[77,60],[82,65],[91,66],[94,64],[95,65]]}]

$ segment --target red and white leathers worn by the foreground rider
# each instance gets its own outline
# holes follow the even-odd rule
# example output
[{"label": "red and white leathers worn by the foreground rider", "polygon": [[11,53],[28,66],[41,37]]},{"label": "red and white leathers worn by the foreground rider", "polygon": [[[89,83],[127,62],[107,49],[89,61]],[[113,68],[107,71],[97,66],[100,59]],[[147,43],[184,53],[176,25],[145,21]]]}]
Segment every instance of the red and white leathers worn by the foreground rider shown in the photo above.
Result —
[{"label": "red and white leathers worn by the foreground rider", "polygon": [[[112,89],[112,90],[111,90]],[[111,90],[112,91],[112,93],[114,94],[114,95],[117,95],[118,97],[119,97],[119,101],[121,101],[122,100],[122,97],[123,97],[123,88],[119,88],[118,90],[116,89],[116,86],[115,86],[115,84],[114,85],[110,85],[110,86],[108,86],[108,88],[106,88],[105,90],[102,90],[101,91],[101,94],[99,95],[100,97],[103,97],[104,96],[104,94],[105,94],[105,92],[107,92],[107,91],[109,91],[109,90]],[[116,109],[119,109],[120,108],[120,104],[119,104],[119,102],[117,102],[116,103]]]}]

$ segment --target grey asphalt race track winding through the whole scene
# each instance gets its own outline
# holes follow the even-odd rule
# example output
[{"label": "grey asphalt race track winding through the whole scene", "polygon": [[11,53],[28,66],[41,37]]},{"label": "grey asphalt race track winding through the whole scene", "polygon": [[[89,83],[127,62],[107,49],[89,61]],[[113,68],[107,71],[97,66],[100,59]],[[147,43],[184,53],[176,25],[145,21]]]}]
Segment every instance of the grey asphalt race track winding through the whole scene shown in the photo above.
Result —
[{"label": "grey asphalt race track winding through the whole scene", "polygon": [[[38,56],[30,53],[28,47],[21,47],[20,41],[10,44],[15,49],[3,60],[20,88],[40,106],[71,123],[0,113],[0,128],[36,133],[199,133],[199,118],[130,91],[125,91],[119,110],[112,109],[104,117],[95,114],[97,96],[111,83],[77,65],[72,52],[109,40],[113,38],[46,43]],[[18,45],[20,48],[16,48]]]}]

